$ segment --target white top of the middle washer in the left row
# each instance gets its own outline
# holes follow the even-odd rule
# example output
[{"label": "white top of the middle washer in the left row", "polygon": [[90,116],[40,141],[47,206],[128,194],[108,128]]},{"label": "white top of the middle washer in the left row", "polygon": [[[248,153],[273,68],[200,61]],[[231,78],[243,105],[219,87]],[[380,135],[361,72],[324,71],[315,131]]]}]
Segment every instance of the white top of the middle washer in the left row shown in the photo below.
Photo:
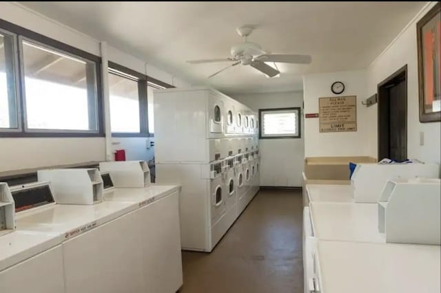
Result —
[{"label": "white top of the middle washer in the left row", "polygon": [[95,205],[46,205],[17,213],[17,230],[76,236],[136,210],[135,203],[105,201]]}]

